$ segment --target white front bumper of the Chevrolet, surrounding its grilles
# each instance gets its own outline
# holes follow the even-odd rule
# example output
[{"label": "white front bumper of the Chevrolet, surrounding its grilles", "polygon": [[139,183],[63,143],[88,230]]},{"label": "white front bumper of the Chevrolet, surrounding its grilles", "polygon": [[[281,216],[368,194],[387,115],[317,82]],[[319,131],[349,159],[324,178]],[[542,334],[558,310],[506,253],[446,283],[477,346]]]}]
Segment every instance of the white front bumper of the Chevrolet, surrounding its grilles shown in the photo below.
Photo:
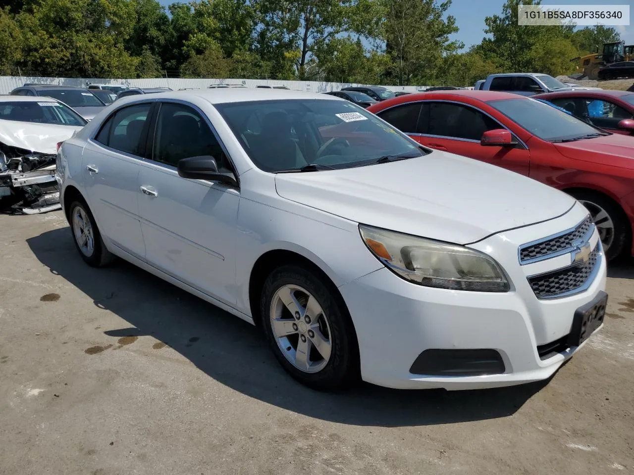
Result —
[{"label": "white front bumper of the Chevrolet, surrounding its grilles", "polygon": [[[519,265],[517,247],[573,227],[586,215],[581,205],[559,219],[491,236],[471,247],[487,252],[505,269],[506,293],[451,291],[418,286],[379,269],[339,288],[359,341],[361,376],[391,388],[466,390],[510,386],[550,377],[579,347],[541,359],[538,346],[571,331],[577,308],[605,289],[605,259],[585,290],[540,300],[526,277],[559,266],[570,255]],[[593,234],[593,245],[598,233]],[[566,264],[563,264],[566,265]],[[428,349],[490,349],[500,353],[504,372],[488,376],[425,376],[410,367]]]}]

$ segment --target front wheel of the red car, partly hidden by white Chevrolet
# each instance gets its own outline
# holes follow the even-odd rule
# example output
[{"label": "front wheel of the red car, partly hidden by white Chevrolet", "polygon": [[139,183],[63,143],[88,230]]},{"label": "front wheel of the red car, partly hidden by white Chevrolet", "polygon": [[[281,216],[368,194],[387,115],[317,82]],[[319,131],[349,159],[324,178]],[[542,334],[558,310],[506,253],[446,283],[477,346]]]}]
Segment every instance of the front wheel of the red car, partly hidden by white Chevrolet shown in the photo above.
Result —
[{"label": "front wheel of the red car, partly hidden by white Chevrolet", "polygon": [[571,195],[592,215],[604,244],[607,260],[614,260],[623,254],[631,239],[629,223],[623,210],[614,201],[595,191],[574,191]]}]

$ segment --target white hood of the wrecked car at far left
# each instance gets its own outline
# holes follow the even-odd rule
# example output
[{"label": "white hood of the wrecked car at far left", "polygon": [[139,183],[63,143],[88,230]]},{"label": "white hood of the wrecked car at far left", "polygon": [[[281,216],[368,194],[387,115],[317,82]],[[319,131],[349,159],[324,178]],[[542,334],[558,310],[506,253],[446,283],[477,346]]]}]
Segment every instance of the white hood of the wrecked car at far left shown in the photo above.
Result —
[{"label": "white hood of the wrecked car at far left", "polygon": [[37,124],[36,122],[18,122],[0,120],[0,142],[32,152],[56,153],[57,143],[70,139],[75,125]]}]

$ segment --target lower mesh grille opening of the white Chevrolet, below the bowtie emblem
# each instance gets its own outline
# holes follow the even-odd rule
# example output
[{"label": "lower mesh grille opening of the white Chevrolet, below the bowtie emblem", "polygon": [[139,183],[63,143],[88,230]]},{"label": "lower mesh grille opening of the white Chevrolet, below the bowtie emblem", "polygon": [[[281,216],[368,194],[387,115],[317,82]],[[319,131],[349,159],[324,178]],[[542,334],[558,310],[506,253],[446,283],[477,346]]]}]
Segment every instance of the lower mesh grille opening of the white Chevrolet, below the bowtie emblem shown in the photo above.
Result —
[{"label": "lower mesh grille opening of the white Chevrolet, below the bowtie emblem", "polygon": [[578,263],[563,269],[528,277],[528,283],[537,298],[561,297],[568,293],[573,293],[590,279],[592,271],[597,266],[598,256],[599,244],[597,243],[585,263]]}]

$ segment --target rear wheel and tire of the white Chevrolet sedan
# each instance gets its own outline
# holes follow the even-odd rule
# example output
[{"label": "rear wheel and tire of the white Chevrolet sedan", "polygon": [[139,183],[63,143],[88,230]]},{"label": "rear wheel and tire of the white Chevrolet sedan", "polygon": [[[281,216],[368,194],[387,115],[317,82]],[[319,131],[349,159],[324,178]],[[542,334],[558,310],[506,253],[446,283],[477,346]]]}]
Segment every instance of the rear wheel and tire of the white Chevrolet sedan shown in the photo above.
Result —
[{"label": "rear wheel and tire of the white Chevrolet sedan", "polygon": [[[75,247],[84,262],[91,267],[103,267],[112,262],[114,256],[103,244],[101,233],[88,205],[83,200],[76,200],[69,209],[70,231],[73,234]],[[83,225],[84,222],[87,222],[89,226]]]}]

